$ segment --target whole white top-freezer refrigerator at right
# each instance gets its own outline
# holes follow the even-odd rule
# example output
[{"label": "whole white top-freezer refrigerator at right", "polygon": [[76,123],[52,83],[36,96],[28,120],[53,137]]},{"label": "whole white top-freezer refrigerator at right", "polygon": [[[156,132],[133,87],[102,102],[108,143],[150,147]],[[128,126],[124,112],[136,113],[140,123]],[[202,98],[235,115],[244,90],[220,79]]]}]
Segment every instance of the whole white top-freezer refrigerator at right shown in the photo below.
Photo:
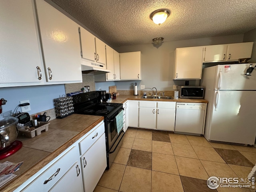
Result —
[{"label": "whole white top-freezer refrigerator at right", "polygon": [[[252,64],[254,67],[256,64]],[[204,137],[208,141],[253,145],[256,138],[256,68],[226,64],[204,68],[201,86],[208,100]]]}]

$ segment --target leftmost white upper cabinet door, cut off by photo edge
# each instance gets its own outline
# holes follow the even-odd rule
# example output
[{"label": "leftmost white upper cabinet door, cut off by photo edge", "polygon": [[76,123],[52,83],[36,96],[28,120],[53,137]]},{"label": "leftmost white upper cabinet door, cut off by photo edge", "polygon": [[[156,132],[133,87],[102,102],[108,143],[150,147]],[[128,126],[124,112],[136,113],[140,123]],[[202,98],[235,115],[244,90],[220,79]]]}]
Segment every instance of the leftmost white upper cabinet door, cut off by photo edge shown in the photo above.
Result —
[{"label": "leftmost white upper cabinet door, cut off by photo edge", "polygon": [[0,83],[42,82],[34,1],[1,1],[0,26]]}]

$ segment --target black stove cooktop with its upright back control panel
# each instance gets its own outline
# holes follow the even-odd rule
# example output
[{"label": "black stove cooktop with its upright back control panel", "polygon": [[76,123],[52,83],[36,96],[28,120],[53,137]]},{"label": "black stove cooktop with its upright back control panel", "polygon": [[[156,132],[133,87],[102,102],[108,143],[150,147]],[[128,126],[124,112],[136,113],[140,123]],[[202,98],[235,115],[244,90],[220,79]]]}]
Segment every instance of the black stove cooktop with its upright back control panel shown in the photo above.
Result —
[{"label": "black stove cooktop with its upright back control panel", "polygon": [[74,112],[76,114],[96,115],[109,118],[123,106],[121,103],[99,102],[100,98],[97,92],[81,93],[72,97]]}]

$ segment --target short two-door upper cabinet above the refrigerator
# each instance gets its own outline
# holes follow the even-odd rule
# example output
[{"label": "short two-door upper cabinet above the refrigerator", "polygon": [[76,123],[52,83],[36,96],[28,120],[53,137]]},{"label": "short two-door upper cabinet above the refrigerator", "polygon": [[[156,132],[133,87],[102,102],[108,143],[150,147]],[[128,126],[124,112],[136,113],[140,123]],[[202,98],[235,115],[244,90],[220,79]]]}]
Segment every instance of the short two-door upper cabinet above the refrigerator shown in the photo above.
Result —
[{"label": "short two-door upper cabinet above the refrigerator", "polygon": [[211,45],[204,48],[203,62],[237,61],[252,56],[253,42]]}]

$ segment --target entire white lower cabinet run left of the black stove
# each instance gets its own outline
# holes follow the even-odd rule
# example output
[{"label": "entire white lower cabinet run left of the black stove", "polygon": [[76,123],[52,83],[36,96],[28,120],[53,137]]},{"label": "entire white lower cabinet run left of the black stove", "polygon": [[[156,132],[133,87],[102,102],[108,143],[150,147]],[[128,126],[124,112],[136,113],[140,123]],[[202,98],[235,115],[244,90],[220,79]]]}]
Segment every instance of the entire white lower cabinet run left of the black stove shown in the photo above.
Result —
[{"label": "entire white lower cabinet run left of the black stove", "polygon": [[102,121],[14,192],[93,192],[106,167]]}]

